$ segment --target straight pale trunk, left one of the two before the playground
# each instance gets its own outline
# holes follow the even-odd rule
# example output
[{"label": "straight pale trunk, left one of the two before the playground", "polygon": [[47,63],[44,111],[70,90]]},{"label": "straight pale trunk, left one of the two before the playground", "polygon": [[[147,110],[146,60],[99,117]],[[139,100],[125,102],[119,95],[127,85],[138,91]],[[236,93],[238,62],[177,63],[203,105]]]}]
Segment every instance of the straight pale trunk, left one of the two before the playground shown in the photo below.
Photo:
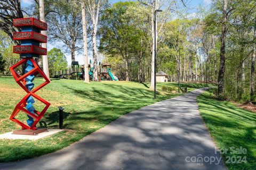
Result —
[{"label": "straight pale trunk, left one of the two before the playground", "polygon": [[90,83],[89,68],[88,68],[88,46],[87,46],[87,29],[86,29],[86,16],[85,16],[84,0],[82,0],[82,20],[83,20],[83,43],[84,43],[84,82]]}]

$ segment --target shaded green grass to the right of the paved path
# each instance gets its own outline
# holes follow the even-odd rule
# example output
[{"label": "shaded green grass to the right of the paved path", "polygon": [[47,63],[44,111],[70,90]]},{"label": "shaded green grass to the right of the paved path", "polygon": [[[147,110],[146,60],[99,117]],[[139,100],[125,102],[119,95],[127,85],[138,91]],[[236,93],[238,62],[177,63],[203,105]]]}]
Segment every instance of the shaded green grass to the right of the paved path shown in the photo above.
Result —
[{"label": "shaded green grass to the right of the paved path", "polygon": [[[229,101],[218,101],[212,91],[204,92],[197,103],[214,142],[223,153],[223,161],[229,170],[256,169],[256,113],[239,109]],[[235,153],[241,147],[246,149],[246,154]],[[228,149],[226,153],[224,149]],[[237,163],[240,157],[246,157],[247,163]]]}]

